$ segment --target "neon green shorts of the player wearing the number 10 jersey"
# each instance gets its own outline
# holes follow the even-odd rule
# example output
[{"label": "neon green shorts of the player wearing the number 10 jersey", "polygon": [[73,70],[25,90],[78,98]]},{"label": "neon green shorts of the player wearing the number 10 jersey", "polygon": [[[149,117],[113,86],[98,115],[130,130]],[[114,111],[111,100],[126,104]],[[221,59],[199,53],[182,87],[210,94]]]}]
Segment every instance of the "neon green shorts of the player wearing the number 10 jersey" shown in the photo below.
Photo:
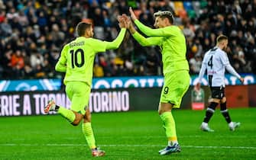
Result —
[{"label": "neon green shorts of the player wearing the number 10 jersey", "polygon": [[79,114],[86,114],[91,88],[85,82],[66,82],[66,94],[70,98],[70,109]]}]

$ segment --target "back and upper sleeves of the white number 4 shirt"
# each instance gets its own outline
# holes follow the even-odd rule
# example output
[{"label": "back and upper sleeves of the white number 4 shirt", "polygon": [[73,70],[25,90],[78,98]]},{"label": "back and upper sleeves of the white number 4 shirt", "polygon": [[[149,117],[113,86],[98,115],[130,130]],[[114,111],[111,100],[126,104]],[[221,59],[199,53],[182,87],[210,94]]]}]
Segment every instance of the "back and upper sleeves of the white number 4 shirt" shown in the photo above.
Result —
[{"label": "back and upper sleeves of the white number 4 shirt", "polygon": [[212,87],[225,86],[225,61],[228,60],[225,54],[215,46],[203,58],[209,85]]}]

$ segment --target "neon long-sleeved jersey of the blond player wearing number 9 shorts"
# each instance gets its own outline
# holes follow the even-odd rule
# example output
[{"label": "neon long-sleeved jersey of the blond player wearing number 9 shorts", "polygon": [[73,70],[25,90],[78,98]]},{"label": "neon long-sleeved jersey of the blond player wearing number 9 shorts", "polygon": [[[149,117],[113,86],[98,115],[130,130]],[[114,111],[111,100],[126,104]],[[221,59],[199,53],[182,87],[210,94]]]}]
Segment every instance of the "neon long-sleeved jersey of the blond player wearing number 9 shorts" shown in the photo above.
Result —
[{"label": "neon long-sleeved jersey of the blond player wearing number 9 shorts", "polygon": [[179,27],[172,25],[152,29],[138,20],[135,20],[134,23],[148,37],[145,38],[138,32],[135,32],[133,37],[138,43],[142,46],[160,46],[164,75],[167,72],[190,69],[186,60],[186,40]]}]

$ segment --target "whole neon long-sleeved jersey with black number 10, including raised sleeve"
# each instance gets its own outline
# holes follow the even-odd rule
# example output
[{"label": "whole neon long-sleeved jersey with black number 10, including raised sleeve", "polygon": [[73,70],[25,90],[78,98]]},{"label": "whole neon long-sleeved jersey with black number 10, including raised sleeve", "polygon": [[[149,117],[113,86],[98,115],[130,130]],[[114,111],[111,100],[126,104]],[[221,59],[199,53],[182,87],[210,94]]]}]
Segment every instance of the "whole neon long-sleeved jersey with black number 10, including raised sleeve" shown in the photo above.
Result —
[{"label": "whole neon long-sleeved jersey with black number 10, including raised sleeve", "polygon": [[66,82],[86,82],[92,85],[92,68],[96,53],[105,50],[115,50],[125,37],[125,28],[122,28],[118,37],[112,42],[96,40],[94,38],[77,37],[76,40],[63,46],[60,59],[55,66],[58,72],[66,72]]}]

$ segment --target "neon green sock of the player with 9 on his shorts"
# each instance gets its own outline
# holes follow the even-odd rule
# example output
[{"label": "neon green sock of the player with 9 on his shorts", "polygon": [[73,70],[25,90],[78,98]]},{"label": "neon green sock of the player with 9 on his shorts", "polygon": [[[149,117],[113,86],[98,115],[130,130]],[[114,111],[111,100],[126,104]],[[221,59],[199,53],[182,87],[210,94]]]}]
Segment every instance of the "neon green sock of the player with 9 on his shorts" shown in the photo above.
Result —
[{"label": "neon green sock of the player with 9 on his shorts", "polygon": [[161,120],[164,123],[165,133],[167,135],[169,142],[177,142],[177,134],[175,121],[173,119],[173,114],[171,112],[164,112],[164,114],[160,115]]}]

